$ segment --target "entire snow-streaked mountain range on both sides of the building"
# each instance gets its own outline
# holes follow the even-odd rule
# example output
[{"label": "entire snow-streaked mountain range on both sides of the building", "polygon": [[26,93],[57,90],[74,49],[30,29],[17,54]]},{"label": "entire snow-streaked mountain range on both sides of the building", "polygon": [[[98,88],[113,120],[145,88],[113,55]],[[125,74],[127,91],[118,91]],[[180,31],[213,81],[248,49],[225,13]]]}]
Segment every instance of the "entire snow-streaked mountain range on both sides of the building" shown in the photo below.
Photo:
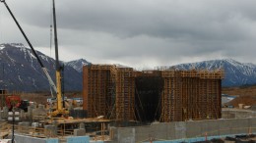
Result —
[{"label": "entire snow-streaked mountain range on both sides of the building", "polygon": [[[38,57],[55,81],[55,60],[36,51]],[[90,62],[79,59],[64,66],[64,90],[82,91],[82,68]],[[224,70],[223,86],[256,83],[256,65],[239,63],[231,59],[212,60],[171,67],[177,70]],[[10,91],[49,91],[48,80],[32,54],[20,43],[0,44],[0,88]]]}]

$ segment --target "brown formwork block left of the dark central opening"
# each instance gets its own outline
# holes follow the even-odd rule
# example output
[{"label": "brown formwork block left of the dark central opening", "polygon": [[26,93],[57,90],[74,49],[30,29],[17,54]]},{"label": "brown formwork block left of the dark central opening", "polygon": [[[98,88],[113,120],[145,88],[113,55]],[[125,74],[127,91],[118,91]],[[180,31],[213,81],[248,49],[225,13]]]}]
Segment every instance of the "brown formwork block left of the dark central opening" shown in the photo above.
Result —
[{"label": "brown formwork block left of the dark central opening", "polygon": [[134,120],[134,78],[131,68],[114,65],[84,67],[84,110],[88,116]]}]

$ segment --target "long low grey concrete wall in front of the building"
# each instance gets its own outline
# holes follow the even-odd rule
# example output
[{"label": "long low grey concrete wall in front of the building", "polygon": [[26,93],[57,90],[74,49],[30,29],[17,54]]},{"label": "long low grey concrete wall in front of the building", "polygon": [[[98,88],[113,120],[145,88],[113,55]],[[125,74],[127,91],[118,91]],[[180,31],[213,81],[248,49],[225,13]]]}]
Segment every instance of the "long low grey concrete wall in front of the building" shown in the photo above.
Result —
[{"label": "long low grey concrete wall in front of the building", "polygon": [[160,122],[147,126],[111,127],[113,142],[132,143],[150,138],[174,140],[256,132],[256,118]]}]

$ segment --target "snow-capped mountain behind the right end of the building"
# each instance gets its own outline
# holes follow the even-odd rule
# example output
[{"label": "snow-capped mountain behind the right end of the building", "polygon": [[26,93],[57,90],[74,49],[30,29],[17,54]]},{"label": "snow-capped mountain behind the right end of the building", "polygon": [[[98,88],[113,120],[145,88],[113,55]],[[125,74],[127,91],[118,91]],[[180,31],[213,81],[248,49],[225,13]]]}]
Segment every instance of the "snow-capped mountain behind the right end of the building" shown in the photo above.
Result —
[{"label": "snow-capped mountain behind the right end of the building", "polygon": [[256,65],[239,63],[232,59],[212,60],[173,66],[176,70],[224,70],[223,86],[239,86],[256,83]]}]

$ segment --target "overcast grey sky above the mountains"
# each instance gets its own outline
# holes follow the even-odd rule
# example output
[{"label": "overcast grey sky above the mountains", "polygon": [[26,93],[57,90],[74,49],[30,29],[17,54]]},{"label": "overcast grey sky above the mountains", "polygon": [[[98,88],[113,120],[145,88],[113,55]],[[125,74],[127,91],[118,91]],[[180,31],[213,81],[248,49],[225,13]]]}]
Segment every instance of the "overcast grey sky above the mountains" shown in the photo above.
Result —
[{"label": "overcast grey sky above the mountains", "polygon": [[[48,56],[51,0],[6,0]],[[59,58],[137,69],[231,58],[256,63],[255,0],[55,0]],[[3,3],[0,43],[28,45]]]}]

